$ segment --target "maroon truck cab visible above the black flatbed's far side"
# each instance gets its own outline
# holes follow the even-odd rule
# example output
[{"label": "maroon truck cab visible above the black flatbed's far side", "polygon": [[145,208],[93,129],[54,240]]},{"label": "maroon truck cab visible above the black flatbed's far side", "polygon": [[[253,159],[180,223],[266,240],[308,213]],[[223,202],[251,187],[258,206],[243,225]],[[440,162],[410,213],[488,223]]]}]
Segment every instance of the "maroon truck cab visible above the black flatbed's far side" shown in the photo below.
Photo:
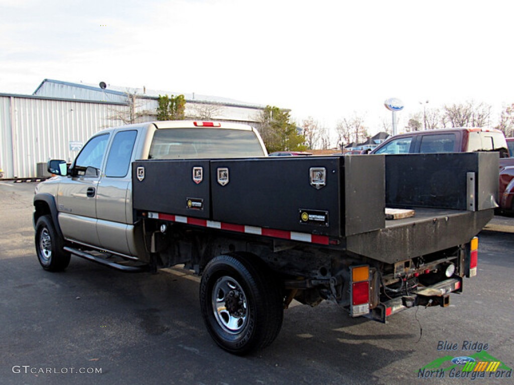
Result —
[{"label": "maroon truck cab visible above the black flatbed's far side", "polygon": [[449,128],[402,133],[381,143],[370,153],[429,153],[498,151],[509,152],[502,131],[487,128]]}]

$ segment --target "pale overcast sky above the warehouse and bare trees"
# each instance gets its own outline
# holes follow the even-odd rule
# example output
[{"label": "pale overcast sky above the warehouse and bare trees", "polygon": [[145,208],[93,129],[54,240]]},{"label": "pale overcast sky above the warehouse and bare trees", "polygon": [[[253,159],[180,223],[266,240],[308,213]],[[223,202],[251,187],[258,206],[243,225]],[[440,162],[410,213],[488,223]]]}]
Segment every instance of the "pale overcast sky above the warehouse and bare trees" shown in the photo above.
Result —
[{"label": "pale overcast sky above the warehouse and bare trees", "polygon": [[371,132],[409,114],[514,103],[504,0],[0,0],[0,93],[43,79],[196,92]]}]

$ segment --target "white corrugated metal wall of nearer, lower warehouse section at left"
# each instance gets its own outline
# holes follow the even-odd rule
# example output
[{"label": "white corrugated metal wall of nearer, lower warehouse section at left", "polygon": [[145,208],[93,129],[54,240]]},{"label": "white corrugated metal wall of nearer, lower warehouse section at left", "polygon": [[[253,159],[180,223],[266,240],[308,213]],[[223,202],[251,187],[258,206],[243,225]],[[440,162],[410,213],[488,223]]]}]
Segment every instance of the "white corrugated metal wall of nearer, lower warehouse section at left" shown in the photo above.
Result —
[{"label": "white corrugated metal wall of nearer, lower warehouse section at left", "polygon": [[5,178],[38,177],[37,164],[75,159],[95,132],[119,126],[128,106],[0,95],[0,168]]}]

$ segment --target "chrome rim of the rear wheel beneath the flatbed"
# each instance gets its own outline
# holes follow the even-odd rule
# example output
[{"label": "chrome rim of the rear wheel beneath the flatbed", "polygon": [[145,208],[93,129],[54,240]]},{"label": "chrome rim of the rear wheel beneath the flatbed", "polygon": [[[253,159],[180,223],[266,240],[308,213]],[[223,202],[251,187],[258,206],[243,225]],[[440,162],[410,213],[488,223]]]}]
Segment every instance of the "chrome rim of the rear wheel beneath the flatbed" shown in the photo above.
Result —
[{"label": "chrome rim of the rear wheel beneath the flatbed", "polygon": [[226,332],[237,334],[245,328],[248,319],[246,295],[232,277],[221,277],[214,284],[212,309],[217,323]]}]

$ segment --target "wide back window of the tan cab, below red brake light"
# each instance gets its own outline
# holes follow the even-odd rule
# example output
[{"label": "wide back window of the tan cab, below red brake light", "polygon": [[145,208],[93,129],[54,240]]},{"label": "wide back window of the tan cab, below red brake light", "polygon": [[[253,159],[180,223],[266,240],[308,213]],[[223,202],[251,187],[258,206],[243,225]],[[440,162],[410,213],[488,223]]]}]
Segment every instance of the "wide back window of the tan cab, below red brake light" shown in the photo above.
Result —
[{"label": "wide back window of the tan cab, below red brake light", "polygon": [[223,128],[169,128],[155,131],[149,159],[264,156],[253,131]]}]

